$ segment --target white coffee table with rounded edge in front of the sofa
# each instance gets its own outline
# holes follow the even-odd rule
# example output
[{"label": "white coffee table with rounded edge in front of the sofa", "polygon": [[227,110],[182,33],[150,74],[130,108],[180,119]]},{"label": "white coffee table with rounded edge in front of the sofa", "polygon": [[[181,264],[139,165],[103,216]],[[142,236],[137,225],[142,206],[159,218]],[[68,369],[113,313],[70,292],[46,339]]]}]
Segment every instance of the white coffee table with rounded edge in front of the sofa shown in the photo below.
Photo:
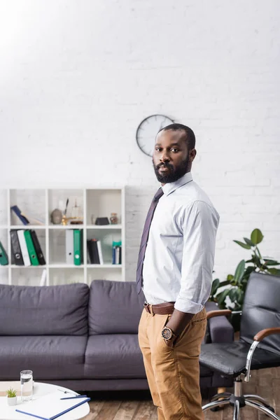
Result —
[{"label": "white coffee table with rounded edge in front of the sofa", "polygon": [[[19,382],[1,382],[1,388],[9,388],[12,386],[15,389],[18,389]],[[55,392],[57,389],[61,389],[62,391],[68,391],[69,393],[65,393],[64,396],[71,396],[73,394],[78,395],[75,391],[71,391],[71,389],[63,388],[62,386],[52,385],[52,384],[42,384],[41,382],[34,382],[34,391],[33,391],[33,399],[38,400],[40,397],[47,395],[48,393]],[[71,394],[70,394],[71,393]],[[19,394],[20,395],[20,394]],[[63,398],[63,393],[62,393]],[[18,397],[18,402],[16,406],[9,407],[7,405],[6,397],[0,396],[0,420],[36,420],[36,417],[27,416],[27,414],[21,414],[15,411],[15,408],[23,409],[25,407],[25,402],[21,401],[20,396]],[[57,420],[80,420],[83,417],[87,416],[90,412],[90,406],[87,402],[75,409],[63,414],[62,416],[57,417]]]}]

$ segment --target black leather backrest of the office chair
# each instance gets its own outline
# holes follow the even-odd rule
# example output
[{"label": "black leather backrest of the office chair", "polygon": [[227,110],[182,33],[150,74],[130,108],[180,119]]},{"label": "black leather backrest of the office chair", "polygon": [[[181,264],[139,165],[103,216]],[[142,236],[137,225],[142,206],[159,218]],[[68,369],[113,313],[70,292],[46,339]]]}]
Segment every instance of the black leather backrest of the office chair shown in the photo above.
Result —
[{"label": "black leather backrest of the office chair", "polygon": [[[251,344],[257,332],[273,327],[280,327],[280,276],[253,272],[244,297],[240,339]],[[280,334],[265,337],[258,346],[280,354]]]}]

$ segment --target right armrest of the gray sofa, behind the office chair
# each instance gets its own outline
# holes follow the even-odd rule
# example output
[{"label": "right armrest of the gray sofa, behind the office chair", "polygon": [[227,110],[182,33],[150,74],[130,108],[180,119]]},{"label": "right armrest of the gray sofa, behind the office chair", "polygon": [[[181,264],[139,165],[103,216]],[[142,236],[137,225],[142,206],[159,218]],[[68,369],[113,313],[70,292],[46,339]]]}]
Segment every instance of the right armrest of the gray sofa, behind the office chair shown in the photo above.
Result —
[{"label": "right armrest of the gray sofa, behind the office chair", "polygon": [[[214,302],[207,302],[207,311],[218,311]],[[228,343],[234,341],[234,329],[226,316],[213,316],[207,321],[206,342],[209,343]]]}]

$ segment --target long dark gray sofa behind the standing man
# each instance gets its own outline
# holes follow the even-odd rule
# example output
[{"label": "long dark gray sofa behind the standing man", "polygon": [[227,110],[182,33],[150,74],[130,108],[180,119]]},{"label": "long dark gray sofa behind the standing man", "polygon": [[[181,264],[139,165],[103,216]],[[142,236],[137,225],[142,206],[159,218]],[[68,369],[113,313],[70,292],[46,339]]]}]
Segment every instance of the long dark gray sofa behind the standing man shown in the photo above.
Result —
[{"label": "long dark gray sofa behind the standing man", "polygon": [[[0,285],[0,380],[31,369],[35,381],[76,391],[148,389],[137,338],[143,302],[130,282]],[[232,337],[224,316],[209,320],[206,342]],[[231,385],[205,368],[200,378],[202,388]]]}]

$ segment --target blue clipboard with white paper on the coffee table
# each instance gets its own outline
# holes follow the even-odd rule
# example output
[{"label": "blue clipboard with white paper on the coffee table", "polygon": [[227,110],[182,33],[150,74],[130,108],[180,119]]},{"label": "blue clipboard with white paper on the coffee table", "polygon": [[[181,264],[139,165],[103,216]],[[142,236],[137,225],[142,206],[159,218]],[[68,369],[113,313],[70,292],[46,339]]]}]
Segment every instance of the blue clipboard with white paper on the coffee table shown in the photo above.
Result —
[{"label": "blue clipboard with white paper on the coffee table", "polygon": [[71,411],[71,409],[90,401],[90,398],[87,397],[73,400],[61,400],[61,397],[61,393],[49,393],[38,398],[38,400],[27,402],[15,411],[41,420],[55,420],[62,414]]}]

